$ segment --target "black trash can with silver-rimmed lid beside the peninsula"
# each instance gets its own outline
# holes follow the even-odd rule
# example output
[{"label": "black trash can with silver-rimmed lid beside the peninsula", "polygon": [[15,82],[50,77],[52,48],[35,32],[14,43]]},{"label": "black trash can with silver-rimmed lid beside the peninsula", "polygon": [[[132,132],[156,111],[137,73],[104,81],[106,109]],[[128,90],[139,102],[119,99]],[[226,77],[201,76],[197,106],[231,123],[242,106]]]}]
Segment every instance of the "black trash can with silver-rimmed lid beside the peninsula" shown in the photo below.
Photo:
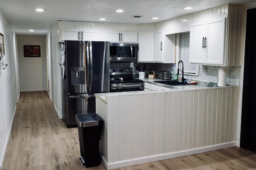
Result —
[{"label": "black trash can with silver-rimmed lid beside the peninsula", "polygon": [[102,118],[96,113],[76,115],[80,143],[79,158],[83,167],[98,166],[101,162],[99,143],[102,131]]}]

